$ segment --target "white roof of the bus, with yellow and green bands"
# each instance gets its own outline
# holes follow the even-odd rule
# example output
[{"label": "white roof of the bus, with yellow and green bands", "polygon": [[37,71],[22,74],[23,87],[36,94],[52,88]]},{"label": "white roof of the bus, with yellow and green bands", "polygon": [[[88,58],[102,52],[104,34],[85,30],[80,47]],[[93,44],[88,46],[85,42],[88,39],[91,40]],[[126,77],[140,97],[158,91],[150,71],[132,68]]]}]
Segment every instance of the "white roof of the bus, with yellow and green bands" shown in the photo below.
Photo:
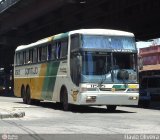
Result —
[{"label": "white roof of the bus, with yellow and green bands", "polygon": [[133,33],[130,32],[125,32],[125,31],[120,31],[120,30],[111,30],[111,29],[79,29],[79,30],[74,30],[74,31],[69,31],[66,33],[60,33],[54,36],[50,36],[41,40],[38,40],[37,42],[28,44],[28,45],[20,45],[16,48],[15,51],[20,51],[24,50],[26,48],[32,48],[34,46],[44,44],[47,42],[50,42],[52,40],[58,40],[64,37],[67,37],[68,35],[72,34],[88,34],[88,35],[110,35],[110,36],[130,36],[134,37]]}]

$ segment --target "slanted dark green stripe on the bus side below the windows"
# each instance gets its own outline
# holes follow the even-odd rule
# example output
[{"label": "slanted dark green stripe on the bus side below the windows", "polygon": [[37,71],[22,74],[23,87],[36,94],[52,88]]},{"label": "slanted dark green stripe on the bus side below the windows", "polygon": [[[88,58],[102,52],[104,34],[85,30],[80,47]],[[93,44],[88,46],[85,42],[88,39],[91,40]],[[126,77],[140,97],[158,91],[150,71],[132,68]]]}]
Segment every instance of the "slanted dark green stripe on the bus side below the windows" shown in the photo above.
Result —
[{"label": "slanted dark green stripe on the bus side below the windows", "polygon": [[47,65],[46,76],[44,79],[42,98],[52,100],[56,76],[60,62],[49,62]]}]

